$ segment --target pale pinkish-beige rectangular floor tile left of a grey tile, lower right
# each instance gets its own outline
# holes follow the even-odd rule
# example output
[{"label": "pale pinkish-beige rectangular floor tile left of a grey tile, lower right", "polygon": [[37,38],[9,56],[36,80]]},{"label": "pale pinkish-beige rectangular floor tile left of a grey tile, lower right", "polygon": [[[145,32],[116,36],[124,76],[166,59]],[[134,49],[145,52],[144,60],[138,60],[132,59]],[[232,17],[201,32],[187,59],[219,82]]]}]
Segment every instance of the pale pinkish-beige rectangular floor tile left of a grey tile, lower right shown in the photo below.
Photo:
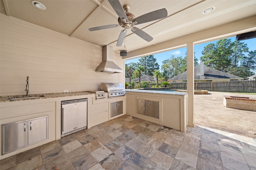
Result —
[{"label": "pale pinkish-beige rectangular floor tile left of a grey tile, lower right", "polygon": [[175,159],[178,159],[181,162],[184,162],[185,164],[196,168],[198,157],[183,150],[178,150]]}]

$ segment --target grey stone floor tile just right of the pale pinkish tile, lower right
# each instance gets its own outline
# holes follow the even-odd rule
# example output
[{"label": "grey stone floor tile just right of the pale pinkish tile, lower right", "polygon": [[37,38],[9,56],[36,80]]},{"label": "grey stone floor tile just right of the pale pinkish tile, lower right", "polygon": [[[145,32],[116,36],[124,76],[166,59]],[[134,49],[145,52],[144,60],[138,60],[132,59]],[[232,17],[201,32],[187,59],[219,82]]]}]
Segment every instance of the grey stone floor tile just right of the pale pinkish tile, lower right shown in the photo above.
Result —
[{"label": "grey stone floor tile just right of the pale pinkish tile, lower right", "polygon": [[208,160],[208,161],[210,161],[214,164],[217,164],[219,166],[222,166],[220,152],[217,152],[217,151],[211,152],[209,150],[204,150],[204,149],[200,148],[198,157]]}]

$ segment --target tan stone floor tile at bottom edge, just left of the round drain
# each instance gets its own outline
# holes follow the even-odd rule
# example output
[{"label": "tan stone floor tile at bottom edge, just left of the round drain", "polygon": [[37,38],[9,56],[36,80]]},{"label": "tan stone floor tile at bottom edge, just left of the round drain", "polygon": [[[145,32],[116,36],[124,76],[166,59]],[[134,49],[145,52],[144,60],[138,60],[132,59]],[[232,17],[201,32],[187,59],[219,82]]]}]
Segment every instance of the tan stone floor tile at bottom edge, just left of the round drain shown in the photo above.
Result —
[{"label": "tan stone floor tile at bottom edge, just left of the round drain", "polygon": [[116,170],[124,161],[114,153],[99,162],[105,170]]}]

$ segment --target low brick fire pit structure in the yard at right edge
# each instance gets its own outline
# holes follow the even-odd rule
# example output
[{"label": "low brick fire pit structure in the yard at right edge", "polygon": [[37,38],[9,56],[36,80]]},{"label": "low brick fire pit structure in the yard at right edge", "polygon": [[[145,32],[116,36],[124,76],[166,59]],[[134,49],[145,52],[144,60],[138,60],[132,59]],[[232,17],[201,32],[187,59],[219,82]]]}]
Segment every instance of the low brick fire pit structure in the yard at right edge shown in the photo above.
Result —
[{"label": "low brick fire pit structure in the yard at right edge", "polygon": [[256,111],[256,98],[224,96],[223,105],[234,109]]}]

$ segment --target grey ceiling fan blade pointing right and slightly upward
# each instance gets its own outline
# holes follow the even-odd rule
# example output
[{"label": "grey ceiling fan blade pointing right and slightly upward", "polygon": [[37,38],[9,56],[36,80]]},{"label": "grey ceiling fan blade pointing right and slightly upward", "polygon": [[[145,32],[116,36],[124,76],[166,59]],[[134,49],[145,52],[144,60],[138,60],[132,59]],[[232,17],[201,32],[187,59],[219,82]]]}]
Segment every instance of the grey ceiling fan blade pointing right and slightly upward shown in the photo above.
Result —
[{"label": "grey ceiling fan blade pointing right and slightly upward", "polygon": [[146,23],[154,20],[159,20],[162,18],[167,17],[167,10],[165,8],[156,10],[153,12],[149,12],[147,14],[144,14],[142,16],[139,16],[137,18],[134,18],[132,22],[136,21],[137,23],[134,23],[134,25],[141,24],[141,23]]}]

